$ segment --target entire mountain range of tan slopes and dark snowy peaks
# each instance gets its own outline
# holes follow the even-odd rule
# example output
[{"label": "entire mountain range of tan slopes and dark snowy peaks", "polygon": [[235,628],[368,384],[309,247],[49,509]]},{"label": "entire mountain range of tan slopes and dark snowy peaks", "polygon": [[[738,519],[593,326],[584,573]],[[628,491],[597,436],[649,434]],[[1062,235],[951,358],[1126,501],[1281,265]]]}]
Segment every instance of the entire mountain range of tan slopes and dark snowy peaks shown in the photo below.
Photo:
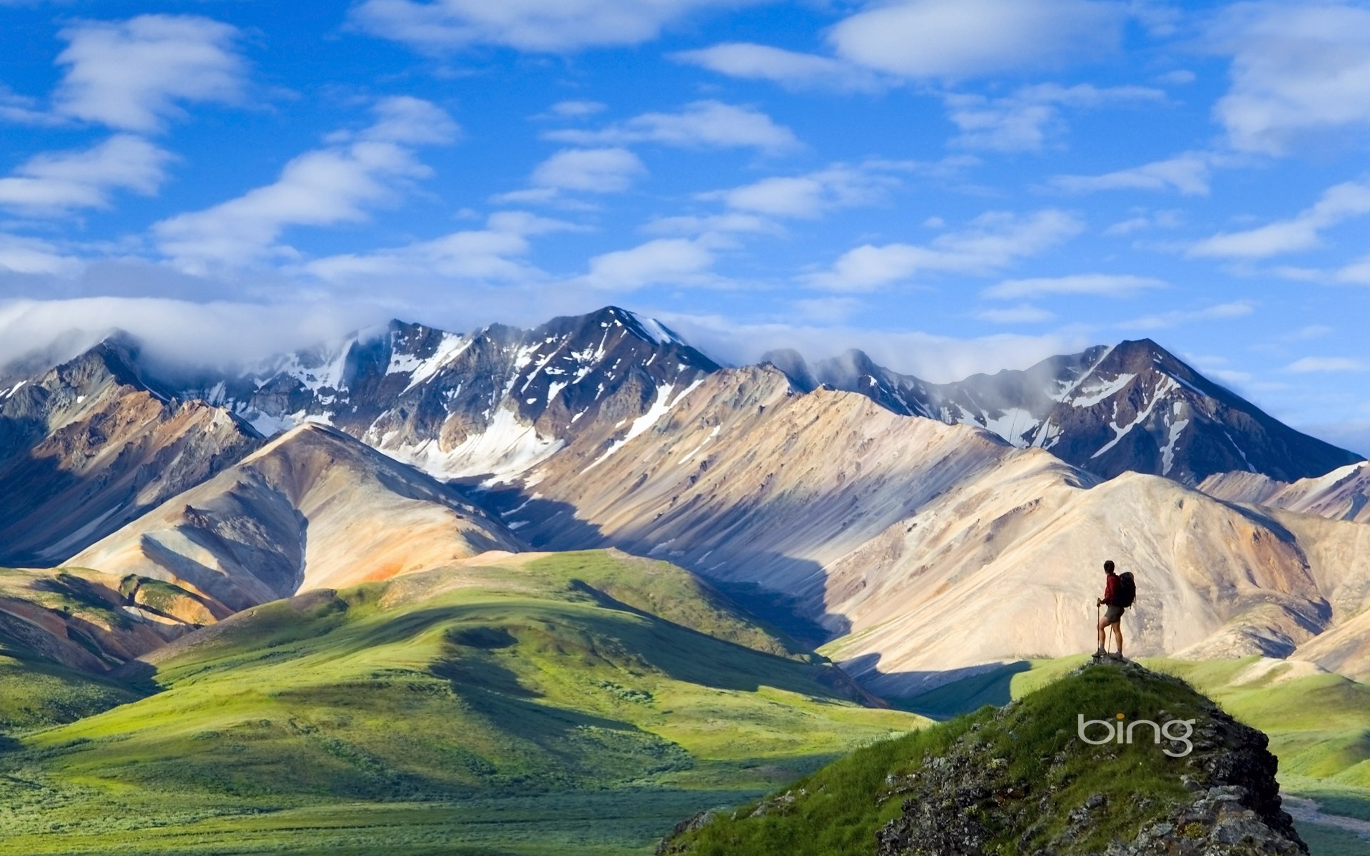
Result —
[{"label": "entire mountain range of tan slopes and dark snowy peaks", "polygon": [[1365,668],[1359,633],[1318,641],[1370,604],[1366,464],[1149,340],[927,383],[856,351],[725,367],[607,307],[390,322],[230,371],[115,334],[21,374],[0,562],[170,586],[184,631],[486,551],[615,546],[907,696],[1089,646],[1111,556],[1148,594],[1138,653]]}]

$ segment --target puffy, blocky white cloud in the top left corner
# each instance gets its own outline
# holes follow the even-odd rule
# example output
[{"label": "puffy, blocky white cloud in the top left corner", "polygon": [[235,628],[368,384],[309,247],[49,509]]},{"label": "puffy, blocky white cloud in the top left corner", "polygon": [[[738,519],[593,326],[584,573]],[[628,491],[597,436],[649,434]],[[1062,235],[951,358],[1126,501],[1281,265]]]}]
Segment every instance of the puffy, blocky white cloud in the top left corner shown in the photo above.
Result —
[{"label": "puffy, blocky white cloud in the top left corner", "polygon": [[121,23],[79,22],[60,33],[67,66],[53,100],[63,115],[155,131],[185,101],[241,97],[238,30],[196,15],[138,15]]}]

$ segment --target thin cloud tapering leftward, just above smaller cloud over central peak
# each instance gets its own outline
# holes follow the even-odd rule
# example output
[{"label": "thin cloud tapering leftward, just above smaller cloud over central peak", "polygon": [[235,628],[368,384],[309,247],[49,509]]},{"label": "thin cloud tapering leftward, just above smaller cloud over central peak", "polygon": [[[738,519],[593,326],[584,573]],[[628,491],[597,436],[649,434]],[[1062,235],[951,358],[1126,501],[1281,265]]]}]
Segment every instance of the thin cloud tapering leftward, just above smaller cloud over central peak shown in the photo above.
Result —
[{"label": "thin cloud tapering leftward, just above smaller cloud over central peak", "polygon": [[548,140],[575,145],[660,142],[681,148],[756,148],[769,152],[799,145],[793,131],[770,116],[721,101],[695,101],[680,112],[645,112],[600,130],[562,129]]}]

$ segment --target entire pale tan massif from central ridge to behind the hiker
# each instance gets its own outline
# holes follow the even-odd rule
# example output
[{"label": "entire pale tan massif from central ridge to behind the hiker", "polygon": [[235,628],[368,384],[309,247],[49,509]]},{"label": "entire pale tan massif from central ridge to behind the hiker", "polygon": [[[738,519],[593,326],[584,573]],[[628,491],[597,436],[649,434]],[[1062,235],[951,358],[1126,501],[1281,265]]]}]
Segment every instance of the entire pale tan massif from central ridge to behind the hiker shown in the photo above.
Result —
[{"label": "entire pale tan massif from central ridge to behind the hiker", "polygon": [[1323,520],[1159,477],[1100,483],[986,431],[796,394],[766,367],[711,375],[621,445],[573,445],[534,481],[508,515],[534,542],[607,540],[790,593],[840,637],[826,651],[889,694],[1092,649],[1104,557],[1138,577],[1138,656],[1284,656],[1351,615],[1345,579],[1370,579],[1322,544]]}]

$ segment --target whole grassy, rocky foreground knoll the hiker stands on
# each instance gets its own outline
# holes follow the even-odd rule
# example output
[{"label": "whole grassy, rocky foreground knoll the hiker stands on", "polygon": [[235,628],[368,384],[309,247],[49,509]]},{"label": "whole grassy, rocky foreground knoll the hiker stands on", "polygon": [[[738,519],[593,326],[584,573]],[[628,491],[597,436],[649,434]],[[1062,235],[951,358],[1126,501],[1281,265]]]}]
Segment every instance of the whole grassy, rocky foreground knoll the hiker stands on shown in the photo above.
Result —
[{"label": "whole grassy, rocky foreground knoll the hiker stands on", "polygon": [[[1077,737],[1081,714],[1111,720],[1092,726],[1097,745]],[[1155,726],[1100,740],[1106,725],[1138,719]],[[1178,678],[1086,666],[1004,708],[859,749],[736,812],[699,815],[658,853],[1307,853],[1267,745]]]}]

